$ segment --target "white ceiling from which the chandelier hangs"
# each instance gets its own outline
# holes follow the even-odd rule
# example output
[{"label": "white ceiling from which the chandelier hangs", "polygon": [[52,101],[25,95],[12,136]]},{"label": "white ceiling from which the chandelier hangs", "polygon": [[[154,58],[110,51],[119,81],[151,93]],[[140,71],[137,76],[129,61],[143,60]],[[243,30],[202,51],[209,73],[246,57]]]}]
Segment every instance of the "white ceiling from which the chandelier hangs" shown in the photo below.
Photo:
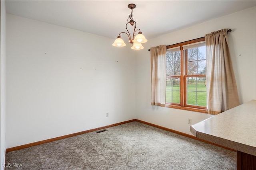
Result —
[{"label": "white ceiling from which the chandelier hangs", "polygon": [[8,0],[6,12],[116,39],[120,32],[126,31],[131,3],[136,4],[133,16],[137,28],[147,39],[256,5],[255,0]]}]

